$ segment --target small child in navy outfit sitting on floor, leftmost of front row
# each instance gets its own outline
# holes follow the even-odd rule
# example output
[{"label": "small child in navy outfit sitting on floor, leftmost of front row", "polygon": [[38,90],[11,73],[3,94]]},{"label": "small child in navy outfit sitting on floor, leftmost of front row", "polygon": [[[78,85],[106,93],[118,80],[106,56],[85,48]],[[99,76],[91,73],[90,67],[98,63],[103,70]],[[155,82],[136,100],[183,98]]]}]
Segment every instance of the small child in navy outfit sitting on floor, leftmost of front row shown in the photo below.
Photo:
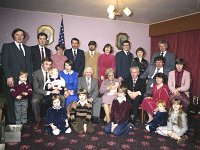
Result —
[{"label": "small child in navy outfit sitting on floor, leftmost of front row", "polygon": [[69,127],[66,111],[61,107],[60,95],[52,96],[52,107],[47,110],[47,123],[46,128],[48,133],[59,135],[60,133],[70,133],[71,128]]}]

